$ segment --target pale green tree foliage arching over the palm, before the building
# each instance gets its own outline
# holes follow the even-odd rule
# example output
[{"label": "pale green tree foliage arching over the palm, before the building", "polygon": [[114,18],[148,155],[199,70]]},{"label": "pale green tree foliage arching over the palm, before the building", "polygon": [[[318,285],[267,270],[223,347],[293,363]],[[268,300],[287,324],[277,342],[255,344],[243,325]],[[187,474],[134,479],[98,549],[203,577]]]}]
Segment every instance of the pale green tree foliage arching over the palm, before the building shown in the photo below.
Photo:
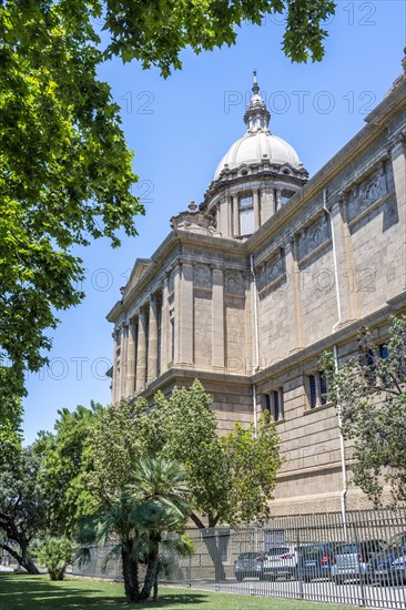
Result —
[{"label": "pale green tree foliage arching over the palm, before the building", "polygon": [[87,485],[103,501],[129,482],[145,457],[182,464],[193,495],[191,518],[199,528],[267,517],[281,466],[275,426],[265,413],[254,426],[236,425],[219,436],[212,398],[195,380],[191,388],[159,393],[151,408],[143,398],[108,407],[91,434]]}]

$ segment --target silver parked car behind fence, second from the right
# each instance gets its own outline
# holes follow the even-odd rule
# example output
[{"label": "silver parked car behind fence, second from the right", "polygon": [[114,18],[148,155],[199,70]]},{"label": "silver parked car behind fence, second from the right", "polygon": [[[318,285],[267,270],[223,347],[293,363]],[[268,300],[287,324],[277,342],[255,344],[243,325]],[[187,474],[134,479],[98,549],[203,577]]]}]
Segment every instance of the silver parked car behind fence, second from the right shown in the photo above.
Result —
[{"label": "silver parked car behind fence, second from the right", "polygon": [[385,547],[384,540],[344,542],[334,549],[332,580],[337,584],[343,580],[361,579],[367,575],[367,563]]}]

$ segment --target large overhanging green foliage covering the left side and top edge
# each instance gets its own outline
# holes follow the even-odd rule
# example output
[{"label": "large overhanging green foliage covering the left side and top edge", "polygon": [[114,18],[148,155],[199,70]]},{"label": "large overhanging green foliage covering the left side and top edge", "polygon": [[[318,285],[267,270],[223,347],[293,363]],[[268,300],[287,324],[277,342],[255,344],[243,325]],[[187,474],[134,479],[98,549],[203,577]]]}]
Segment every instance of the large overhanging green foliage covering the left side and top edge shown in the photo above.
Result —
[{"label": "large overhanging green foliage covering the left side and top edge", "polygon": [[[103,11],[104,50],[93,29]],[[182,67],[182,50],[233,44],[243,22],[282,13],[285,54],[319,61],[323,22],[334,11],[332,0],[1,2],[0,403],[11,428],[19,415],[10,397],[24,395],[26,370],[47,363],[47,331],[83,297],[74,246],[102,236],[118,246],[118,231],[136,235],[133,217],[144,213],[130,191],[138,177],[119,106],[98,67],[119,55],[168,77]],[[9,424],[1,426],[10,436]]]}]

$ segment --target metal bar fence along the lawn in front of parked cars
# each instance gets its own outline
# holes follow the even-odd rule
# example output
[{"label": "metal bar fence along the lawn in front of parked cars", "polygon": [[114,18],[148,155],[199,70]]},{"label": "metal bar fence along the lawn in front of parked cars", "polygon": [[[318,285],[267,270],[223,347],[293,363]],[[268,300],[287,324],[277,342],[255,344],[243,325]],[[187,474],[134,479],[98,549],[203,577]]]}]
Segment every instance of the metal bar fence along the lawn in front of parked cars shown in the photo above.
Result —
[{"label": "metal bar fence along the lawn in front of parked cars", "polygon": [[[406,608],[404,508],[352,511],[345,520],[341,514],[275,518],[261,527],[192,530],[190,535],[195,552],[177,561],[172,584],[365,608]],[[388,541],[396,543],[385,547]],[[103,571],[105,552],[94,549],[90,566],[75,572],[120,578],[120,561],[110,561]]]}]

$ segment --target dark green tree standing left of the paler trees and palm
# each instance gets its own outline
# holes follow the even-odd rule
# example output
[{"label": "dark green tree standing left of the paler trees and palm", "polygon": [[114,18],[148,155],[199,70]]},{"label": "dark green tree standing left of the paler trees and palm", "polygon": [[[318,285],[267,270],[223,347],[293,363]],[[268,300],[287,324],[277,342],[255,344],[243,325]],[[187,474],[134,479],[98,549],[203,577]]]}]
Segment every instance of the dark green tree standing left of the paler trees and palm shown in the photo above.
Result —
[{"label": "dark green tree standing left of the paler trees and palm", "polygon": [[90,510],[84,464],[88,464],[90,435],[104,409],[100,404],[90,408],[59,410],[54,433],[40,433],[33,451],[40,457],[39,485],[47,497],[47,527],[53,535],[71,536],[78,518]]}]

